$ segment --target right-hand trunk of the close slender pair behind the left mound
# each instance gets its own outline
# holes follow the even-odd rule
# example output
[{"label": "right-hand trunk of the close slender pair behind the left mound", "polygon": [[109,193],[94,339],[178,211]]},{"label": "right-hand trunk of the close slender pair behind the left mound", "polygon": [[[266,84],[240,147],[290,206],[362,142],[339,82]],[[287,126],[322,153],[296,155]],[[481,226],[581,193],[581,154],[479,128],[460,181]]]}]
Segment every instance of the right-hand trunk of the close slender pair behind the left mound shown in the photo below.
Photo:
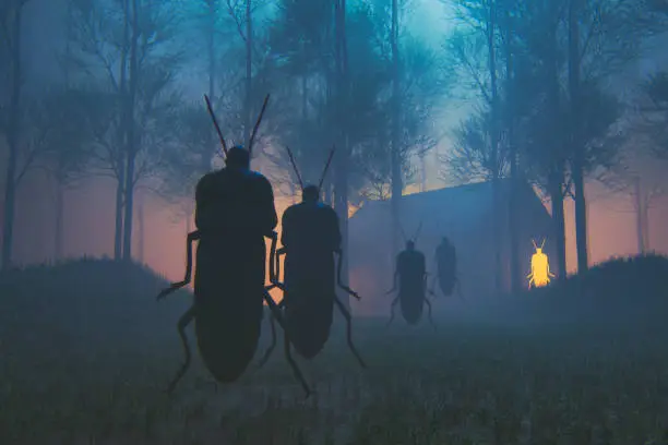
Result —
[{"label": "right-hand trunk of the close slender pair behind the left mound", "polygon": [[139,28],[139,1],[132,0],[132,39],[130,41],[130,75],[129,94],[126,98],[126,208],[123,220],[123,261],[132,261],[132,225],[134,209],[134,163],[136,158],[136,123],[134,121],[134,101],[139,83],[138,40]]}]

